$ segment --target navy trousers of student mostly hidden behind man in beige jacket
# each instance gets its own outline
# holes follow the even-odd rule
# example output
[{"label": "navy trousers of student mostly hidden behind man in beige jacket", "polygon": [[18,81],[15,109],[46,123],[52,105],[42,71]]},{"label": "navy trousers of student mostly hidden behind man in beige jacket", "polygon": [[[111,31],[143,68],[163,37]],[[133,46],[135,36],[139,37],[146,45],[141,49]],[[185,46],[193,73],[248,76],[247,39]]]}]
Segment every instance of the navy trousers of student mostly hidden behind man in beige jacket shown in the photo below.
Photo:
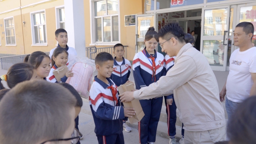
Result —
[{"label": "navy trousers of student mostly hidden behind man in beige jacket", "polygon": [[176,104],[174,101],[174,98],[172,99],[172,105],[168,105],[166,103],[166,98],[167,96],[164,96],[164,102],[165,102],[165,106],[166,106],[166,114],[167,114],[167,128],[168,128],[168,134],[169,136],[175,136],[176,135]]}]

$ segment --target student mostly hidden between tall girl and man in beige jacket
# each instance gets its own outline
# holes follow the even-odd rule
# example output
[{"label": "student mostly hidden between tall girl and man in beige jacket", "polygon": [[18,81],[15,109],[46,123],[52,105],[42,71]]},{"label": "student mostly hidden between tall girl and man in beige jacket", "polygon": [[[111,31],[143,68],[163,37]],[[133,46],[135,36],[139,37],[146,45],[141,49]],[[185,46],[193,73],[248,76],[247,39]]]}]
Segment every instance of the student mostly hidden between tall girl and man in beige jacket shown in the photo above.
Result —
[{"label": "student mostly hidden between tall girl and man in beige jacket", "polygon": [[[170,58],[168,54],[164,57],[165,61],[165,68],[166,68],[166,73],[172,66],[174,66],[174,57]],[[173,94],[170,96],[164,96],[164,103],[166,106],[166,114],[167,114],[167,128],[168,128],[168,135],[170,137],[169,144],[176,144],[176,104],[173,98]]]}]

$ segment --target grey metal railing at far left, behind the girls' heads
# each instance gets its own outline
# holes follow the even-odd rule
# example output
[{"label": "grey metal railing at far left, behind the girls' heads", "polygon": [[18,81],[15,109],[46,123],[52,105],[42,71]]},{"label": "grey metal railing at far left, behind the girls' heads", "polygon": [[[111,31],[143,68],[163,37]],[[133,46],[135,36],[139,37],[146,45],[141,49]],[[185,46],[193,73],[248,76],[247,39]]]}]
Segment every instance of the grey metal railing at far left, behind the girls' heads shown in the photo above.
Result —
[{"label": "grey metal railing at far left, behind the girls' heads", "polygon": [[[50,52],[46,52],[47,55],[50,54]],[[17,64],[24,61],[24,58],[27,56],[27,54],[24,55],[16,55],[16,56],[6,56],[1,57],[1,68],[3,70],[8,70],[13,64]]]}]

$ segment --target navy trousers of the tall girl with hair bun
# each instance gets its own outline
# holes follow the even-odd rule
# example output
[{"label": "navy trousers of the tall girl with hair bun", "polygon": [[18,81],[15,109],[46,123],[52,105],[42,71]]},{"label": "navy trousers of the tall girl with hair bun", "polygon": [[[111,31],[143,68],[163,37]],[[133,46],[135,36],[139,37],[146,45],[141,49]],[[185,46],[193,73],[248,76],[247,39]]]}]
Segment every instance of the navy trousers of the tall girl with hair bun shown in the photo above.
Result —
[{"label": "navy trousers of the tall girl with hair bun", "polygon": [[138,122],[140,144],[156,142],[156,129],[161,114],[163,98],[140,100],[145,116]]}]

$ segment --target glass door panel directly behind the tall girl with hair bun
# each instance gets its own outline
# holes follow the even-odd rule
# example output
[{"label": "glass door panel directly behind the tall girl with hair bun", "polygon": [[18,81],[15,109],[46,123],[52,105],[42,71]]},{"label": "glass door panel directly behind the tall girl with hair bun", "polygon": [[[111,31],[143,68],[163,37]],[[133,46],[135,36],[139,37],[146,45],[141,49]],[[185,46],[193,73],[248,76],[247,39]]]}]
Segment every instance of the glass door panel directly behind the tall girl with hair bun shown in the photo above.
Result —
[{"label": "glass door panel directly behind the tall girl with hair bun", "polygon": [[141,14],[136,15],[136,46],[135,46],[135,52],[138,53],[142,51],[145,47],[145,35],[148,31],[149,27],[154,26],[155,30],[156,28],[156,14]]}]

